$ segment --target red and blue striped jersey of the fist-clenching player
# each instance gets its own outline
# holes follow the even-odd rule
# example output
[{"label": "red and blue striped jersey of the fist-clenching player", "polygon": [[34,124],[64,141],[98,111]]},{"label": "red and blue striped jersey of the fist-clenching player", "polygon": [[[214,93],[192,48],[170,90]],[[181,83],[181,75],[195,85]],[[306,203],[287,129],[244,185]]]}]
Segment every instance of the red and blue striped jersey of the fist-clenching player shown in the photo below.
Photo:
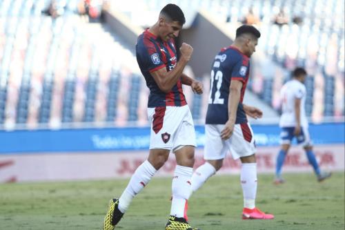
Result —
[{"label": "red and blue striped jersey of the fist-clenching player", "polygon": [[145,77],[146,86],[150,89],[148,108],[186,105],[181,79],[169,93],[164,93],[150,74],[160,68],[166,68],[167,71],[175,68],[177,54],[174,40],[163,41],[146,29],[137,39],[136,52],[139,68]]}]

